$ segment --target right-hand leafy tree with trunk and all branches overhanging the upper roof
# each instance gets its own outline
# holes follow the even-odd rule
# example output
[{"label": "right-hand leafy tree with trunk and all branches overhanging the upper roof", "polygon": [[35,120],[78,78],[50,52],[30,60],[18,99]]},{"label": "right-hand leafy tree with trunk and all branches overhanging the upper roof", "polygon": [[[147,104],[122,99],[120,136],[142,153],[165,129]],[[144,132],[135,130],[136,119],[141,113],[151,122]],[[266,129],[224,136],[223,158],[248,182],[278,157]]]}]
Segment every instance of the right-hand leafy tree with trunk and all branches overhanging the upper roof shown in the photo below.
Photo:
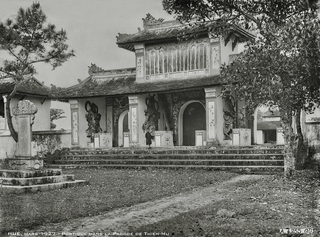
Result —
[{"label": "right-hand leafy tree with trunk and all branches overhanging the upper roof", "polygon": [[[219,36],[225,37],[233,27],[258,30],[261,37],[248,42],[247,50],[231,66],[222,69],[225,80],[222,95],[244,98],[249,114],[261,103],[277,105],[287,141],[285,175],[293,175],[295,168],[302,169],[304,139],[300,112],[312,111],[320,98],[320,23],[315,17],[318,1],[162,2],[168,13],[176,14],[180,21],[192,22],[191,26],[206,26],[206,22],[214,21],[213,33]],[[294,114],[299,138],[297,150],[291,127]]]}]

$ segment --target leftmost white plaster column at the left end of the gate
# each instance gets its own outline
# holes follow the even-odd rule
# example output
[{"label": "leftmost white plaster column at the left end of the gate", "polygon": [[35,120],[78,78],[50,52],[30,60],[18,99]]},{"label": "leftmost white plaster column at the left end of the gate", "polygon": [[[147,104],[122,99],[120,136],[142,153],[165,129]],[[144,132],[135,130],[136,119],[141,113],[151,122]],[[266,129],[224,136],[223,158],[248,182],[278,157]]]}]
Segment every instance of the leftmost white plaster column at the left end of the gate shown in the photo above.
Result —
[{"label": "leftmost white plaster column at the left end of the gate", "polygon": [[69,100],[71,110],[71,147],[80,147],[79,142],[79,103]]}]

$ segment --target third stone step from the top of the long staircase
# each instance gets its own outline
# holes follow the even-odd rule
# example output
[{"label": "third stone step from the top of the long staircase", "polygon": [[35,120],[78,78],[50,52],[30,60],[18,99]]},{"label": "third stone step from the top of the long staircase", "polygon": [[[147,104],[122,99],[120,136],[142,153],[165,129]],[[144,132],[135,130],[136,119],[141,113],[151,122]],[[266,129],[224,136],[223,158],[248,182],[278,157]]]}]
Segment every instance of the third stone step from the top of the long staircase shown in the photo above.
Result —
[{"label": "third stone step from the top of the long staircase", "polygon": [[132,159],[121,159],[121,160],[59,160],[55,163],[56,165],[204,165],[204,166],[283,166],[283,160],[181,160],[181,159],[167,159],[167,160],[154,160],[154,159],[143,159],[143,160],[132,160]]}]

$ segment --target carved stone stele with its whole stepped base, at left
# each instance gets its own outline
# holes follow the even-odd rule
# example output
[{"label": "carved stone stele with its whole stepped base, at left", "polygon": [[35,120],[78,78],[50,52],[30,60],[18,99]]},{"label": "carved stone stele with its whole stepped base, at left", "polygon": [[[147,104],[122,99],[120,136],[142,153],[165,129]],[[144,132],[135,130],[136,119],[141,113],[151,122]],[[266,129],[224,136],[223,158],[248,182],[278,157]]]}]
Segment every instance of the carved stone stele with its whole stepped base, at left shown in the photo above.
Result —
[{"label": "carved stone stele with its whole stepped base, at left", "polygon": [[0,193],[41,192],[85,184],[74,175],[63,175],[61,169],[42,169],[32,142],[32,124],[37,107],[30,101],[19,101],[12,113],[18,125],[15,158],[9,159],[10,169],[0,169]]}]

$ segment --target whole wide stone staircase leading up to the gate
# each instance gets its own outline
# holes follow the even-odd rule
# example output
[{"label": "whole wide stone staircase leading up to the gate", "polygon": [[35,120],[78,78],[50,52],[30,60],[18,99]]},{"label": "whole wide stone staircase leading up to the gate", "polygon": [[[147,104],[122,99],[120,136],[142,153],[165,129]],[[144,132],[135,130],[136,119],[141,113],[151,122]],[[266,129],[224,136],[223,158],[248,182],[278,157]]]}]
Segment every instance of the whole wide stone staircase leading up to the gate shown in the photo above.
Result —
[{"label": "whole wide stone staircase leading up to the gate", "polygon": [[280,173],[283,146],[96,148],[54,154],[50,169],[211,169],[241,173]]}]

